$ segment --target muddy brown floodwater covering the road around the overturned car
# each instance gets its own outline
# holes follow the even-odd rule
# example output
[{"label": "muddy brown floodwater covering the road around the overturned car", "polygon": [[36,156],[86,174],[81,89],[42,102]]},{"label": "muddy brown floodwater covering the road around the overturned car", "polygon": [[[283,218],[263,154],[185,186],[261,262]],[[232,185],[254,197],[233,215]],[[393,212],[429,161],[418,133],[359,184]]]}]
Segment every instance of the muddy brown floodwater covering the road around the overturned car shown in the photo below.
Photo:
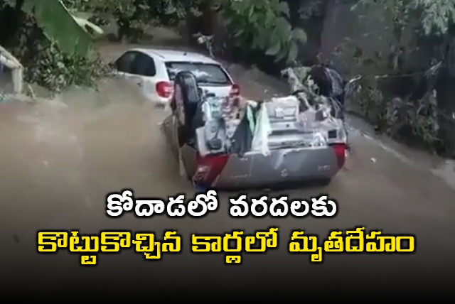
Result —
[{"label": "muddy brown floodwater covering the road around the overturned car", "polygon": [[[241,77],[241,76],[240,76]],[[250,97],[260,98],[264,85],[240,80]],[[137,196],[193,195],[190,183],[178,175],[178,165],[161,134],[161,109],[154,109],[134,89],[109,80],[100,93],[68,92],[60,102],[0,104],[0,241],[1,286],[36,288],[71,286],[100,290],[110,283],[123,288],[146,283],[166,286],[264,288],[268,283],[291,286],[333,284],[353,288],[444,287],[454,273],[455,192],[428,170],[418,168],[382,149],[359,132],[352,132],[353,154],[326,188],[288,190],[306,199],[327,193],[338,202],[331,219],[232,219],[228,193],[220,195],[218,212],[200,219],[164,216],[108,218],[108,192],[131,188]],[[268,92],[267,94],[271,94]],[[259,195],[259,192],[250,192]],[[225,266],[223,256],[189,254],[191,233],[248,234],[271,226],[280,229],[279,249],[264,255],[244,255],[244,264]],[[292,229],[304,229],[325,239],[331,229],[383,229],[386,234],[415,234],[417,252],[410,255],[327,254],[322,264],[310,264],[309,254],[287,254]],[[100,254],[98,266],[83,268],[77,255],[36,253],[37,230],[78,229],[96,234],[105,229],[149,230],[161,235],[177,229],[183,254],[162,261],[144,261],[132,251]],[[5,275],[7,273],[7,275]],[[159,273],[159,274],[154,274]],[[117,282],[117,283],[116,283]],[[169,285],[171,284],[171,285]],[[266,285],[264,285],[266,284]],[[242,287],[243,286],[243,287]],[[304,287],[301,287],[304,288]],[[236,290],[237,290],[236,289]]]}]

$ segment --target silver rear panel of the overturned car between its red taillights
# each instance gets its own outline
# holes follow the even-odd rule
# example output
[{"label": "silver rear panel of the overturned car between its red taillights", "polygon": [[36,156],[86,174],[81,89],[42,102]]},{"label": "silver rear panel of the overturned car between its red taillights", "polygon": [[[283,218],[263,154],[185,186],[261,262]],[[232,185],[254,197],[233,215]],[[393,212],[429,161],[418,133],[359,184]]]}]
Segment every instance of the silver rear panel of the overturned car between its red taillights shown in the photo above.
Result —
[{"label": "silver rear panel of the overturned car between its red taillights", "polygon": [[213,186],[228,188],[262,188],[277,184],[305,183],[333,178],[338,173],[336,153],[330,146],[317,148],[283,148],[269,156],[250,152],[230,155]]}]

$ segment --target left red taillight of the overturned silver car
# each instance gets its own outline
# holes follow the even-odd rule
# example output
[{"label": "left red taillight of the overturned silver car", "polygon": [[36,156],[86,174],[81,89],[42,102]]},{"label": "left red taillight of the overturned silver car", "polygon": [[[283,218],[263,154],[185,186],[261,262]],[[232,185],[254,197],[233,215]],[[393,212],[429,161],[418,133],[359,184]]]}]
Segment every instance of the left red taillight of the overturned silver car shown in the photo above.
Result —
[{"label": "left red taillight of the overturned silver car", "polygon": [[220,175],[221,171],[228,163],[228,155],[218,156],[198,156],[196,160],[196,173],[193,177],[196,183],[204,183],[210,186],[215,178]]}]

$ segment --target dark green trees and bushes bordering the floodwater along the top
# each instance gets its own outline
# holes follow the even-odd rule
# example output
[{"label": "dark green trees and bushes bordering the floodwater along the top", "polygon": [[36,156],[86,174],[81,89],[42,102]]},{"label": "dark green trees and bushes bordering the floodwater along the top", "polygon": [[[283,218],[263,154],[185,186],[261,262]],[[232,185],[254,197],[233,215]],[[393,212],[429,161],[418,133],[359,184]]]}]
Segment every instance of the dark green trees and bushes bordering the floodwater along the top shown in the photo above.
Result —
[{"label": "dark green trees and bushes bordering the floodwater along the top", "polygon": [[[324,61],[318,48],[326,13],[335,2],[0,0],[0,44],[26,67],[27,82],[53,91],[94,86],[109,72],[97,58],[92,31],[73,18],[81,13],[100,26],[115,23],[117,38],[132,41],[144,36],[144,25],[183,22],[190,38],[195,33],[213,36],[215,55],[276,73],[285,66]],[[365,52],[356,41],[333,50],[352,54],[362,75],[352,103],[378,131],[455,156],[455,89],[450,85],[455,81],[455,0],[346,3],[359,11],[358,18],[365,18],[359,8],[378,8],[378,14],[390,19],[393,33],[384,42],[387,52]]]}]

